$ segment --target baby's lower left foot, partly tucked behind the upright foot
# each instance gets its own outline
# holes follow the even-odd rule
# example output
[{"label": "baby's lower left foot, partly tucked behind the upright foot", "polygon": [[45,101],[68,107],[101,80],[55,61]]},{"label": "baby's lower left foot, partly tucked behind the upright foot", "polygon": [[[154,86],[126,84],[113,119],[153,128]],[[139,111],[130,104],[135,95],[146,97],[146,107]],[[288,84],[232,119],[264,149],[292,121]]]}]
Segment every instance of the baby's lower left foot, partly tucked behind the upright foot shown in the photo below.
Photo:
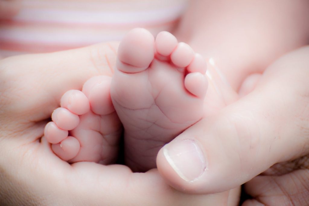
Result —
[{"label": "baby's lower left foot, partly tucked behind the upright foot", "polygon": [[110,97],[111,77],[89,79],[83,90],[69,90],[61,97],[44,136],[53,152],[70,163],[93,161],[108,164],[115,160],[121,122]]}]

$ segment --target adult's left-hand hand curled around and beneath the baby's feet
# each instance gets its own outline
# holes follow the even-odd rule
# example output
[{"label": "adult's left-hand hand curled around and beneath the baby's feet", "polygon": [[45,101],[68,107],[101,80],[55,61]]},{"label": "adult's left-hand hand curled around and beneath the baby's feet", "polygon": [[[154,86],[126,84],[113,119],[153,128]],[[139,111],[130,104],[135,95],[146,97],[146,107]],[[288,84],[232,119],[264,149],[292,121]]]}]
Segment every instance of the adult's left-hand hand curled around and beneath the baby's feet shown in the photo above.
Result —
[{"label": "adult's left-hand hand curled around and beneath the baby's feet", "polygon": [[0,205],[223,205],[227,201],[229,192],[176,191],[157,170],[132,173],[124,165],[70,165],[52,152],[43,137],[44,126],[61,95],[81,89],[94,75],[112,75],[117,45],[0,61]]}]

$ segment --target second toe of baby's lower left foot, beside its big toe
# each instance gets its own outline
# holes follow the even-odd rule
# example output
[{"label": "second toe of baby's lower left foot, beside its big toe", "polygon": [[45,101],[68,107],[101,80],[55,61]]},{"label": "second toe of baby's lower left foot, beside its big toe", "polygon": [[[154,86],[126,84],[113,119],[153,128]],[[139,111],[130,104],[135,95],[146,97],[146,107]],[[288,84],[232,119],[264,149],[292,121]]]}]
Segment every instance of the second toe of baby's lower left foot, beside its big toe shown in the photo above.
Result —
[{"label": "second toe of baby's lower left foot, beside its big toe", "polygon": [[61,97],[60,105],[77,115],[86,114],[90,110],[88,98],[79,90],[67,91]]}]

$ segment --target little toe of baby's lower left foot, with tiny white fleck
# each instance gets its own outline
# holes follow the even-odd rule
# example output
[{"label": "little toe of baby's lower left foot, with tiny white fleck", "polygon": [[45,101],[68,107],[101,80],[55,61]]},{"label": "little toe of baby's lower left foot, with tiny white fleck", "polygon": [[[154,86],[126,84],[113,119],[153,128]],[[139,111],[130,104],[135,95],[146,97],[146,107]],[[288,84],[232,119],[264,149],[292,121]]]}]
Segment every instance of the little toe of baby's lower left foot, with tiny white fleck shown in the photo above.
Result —
[{"label": "little toe of baby's lower left foot, with tiny white fleck", "polygon": [[53,152],[64,161],[76,157],[80,149],[80,144],[75,137],[68,136],[59,144],[52,144]]}]

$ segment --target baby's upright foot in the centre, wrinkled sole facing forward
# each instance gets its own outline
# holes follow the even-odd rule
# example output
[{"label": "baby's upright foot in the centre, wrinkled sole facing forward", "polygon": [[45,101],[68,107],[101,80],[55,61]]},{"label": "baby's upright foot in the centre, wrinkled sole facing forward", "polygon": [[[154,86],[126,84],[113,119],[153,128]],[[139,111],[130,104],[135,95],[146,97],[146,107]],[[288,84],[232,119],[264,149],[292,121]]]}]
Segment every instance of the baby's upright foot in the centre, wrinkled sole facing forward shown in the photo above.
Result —
[{"label": "baby's upright foot in the centre, wrinkled sole facing forward", "polygon": [[131,30],[121,41],[111,97],[125,129],[125,161],[156,167],[159,149],[203,116],[206,63],[175,36]]}]

